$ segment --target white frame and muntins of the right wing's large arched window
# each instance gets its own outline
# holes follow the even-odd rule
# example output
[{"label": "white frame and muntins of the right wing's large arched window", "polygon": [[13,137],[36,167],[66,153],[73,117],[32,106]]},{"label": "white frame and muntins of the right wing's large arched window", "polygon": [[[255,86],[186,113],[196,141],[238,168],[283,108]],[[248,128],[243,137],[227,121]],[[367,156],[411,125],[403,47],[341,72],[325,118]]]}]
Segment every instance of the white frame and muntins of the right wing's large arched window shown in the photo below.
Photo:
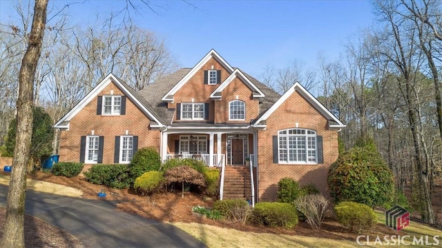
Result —
[{"label": "white frame and muntins of the right wing's large arched window", "polygon": [[[305,134],[289,134],[289,130],[305,130]],[[280,134],[280,132],[286,131],[286,134]],[[314,134],[308,134],[308,132],[314,132]],[[280,160],[280,137],[285,136],[286,142],[287,142],[287,161],[281,161]],[[289,136],[298,136],[298,137],[305,137],[305,159],[306,161],[288,161],[289,158]],[[309,162],[309,144],[308,144],[308,137],[314,137],[315,138],[315,161]],[[318,164],[318,133],[314,130],[309,130],[305,128],[288,128],[285,130],[279,130],[278,131],[278,163],[280,164],[286,164],[286,165],[317,165]]]}]

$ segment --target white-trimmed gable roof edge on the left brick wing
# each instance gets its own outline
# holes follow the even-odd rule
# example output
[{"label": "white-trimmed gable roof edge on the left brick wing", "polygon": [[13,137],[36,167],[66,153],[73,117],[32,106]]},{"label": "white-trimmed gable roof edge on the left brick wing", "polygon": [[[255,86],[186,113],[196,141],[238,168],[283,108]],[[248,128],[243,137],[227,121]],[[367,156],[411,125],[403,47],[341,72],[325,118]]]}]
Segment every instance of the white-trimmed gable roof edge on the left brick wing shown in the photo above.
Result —
[{"label": "white-trimmed gable roof edge on the left brick wing", "polygon": [[95,96],[99,94],[99,92],[102,92],[104,88],[109,85],[109,83],[114,82],[115,85],[119,88],[119,90],[122,90],[124,95],[126,95],[135,105],[140,107],[142,112],[144,112],[148,118],[151,119],[151,121],[154,121],[155,124],[151,124],[152,127],[160,127],[162,126],[162,121],[160,121],[160,118],[153,114],[155,111],[152,109],[152,107],[143,99],[140,94],[135,92],[132,87],[124,83],[121,79],[119,79],[117,76],[113,75],[112,73],[108,74],[102,81],[100,81],[94,88],[91,90],[86,96],[84,96],[77,105],[75,105],[72,109],[69,110],[67,114],[65,114],[57,123],[55,123],[54,127],[56,128],[68,128],[69,127],[69,121],[76,115],[80,110],[82,110],[90,101],[92,101]]}]

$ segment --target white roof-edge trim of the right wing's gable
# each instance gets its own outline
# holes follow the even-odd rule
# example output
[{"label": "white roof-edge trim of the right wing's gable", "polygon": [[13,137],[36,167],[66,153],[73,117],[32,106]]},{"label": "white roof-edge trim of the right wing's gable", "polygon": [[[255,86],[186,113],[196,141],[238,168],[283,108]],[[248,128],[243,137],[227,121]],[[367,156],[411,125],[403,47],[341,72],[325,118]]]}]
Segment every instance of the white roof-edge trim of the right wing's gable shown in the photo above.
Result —
[{"label": "white roof-edge trim of the right wing's gable", "polygon": [[275,112],[275,110],[277,110],[278,107],[280,107],[280,105],[284,103],[289,98],[289,96],[291,96],[291,94],[293,94],[296,91],[299,92],[305,99],[307,99],[307,101],[309,101],[309,103],[311,103],[311,105],[313,105],[316,108],[316,110],[318,110],[321,114],[323,114],[323,116],[325,116],[329,120],[330,128],[345,127],[345,125],[342,122],[340,122],[339,119],[336,116],[334,116],[334,114],[332,114],[332,112],[327,110],[327,108],[322,103],[320,103],[318,99],[316,99],[312,94],[310,94],[310,92],[308,92],[308,90],[306,90],[305,87],[302,87],[302,85],[299,82],[296,82],[294,85],[292,85],[289,88],[289,90],[287,90],[287,92],[282,94],[280,99],[278,99],[278,101],[273,103],[273,105],[264,114],[262,114],[260,118],[258,118],[258,120],[253,124],[253,126],[258,127],[260,126],[260,122],[265,122],[267,118],[269,118],[269,116],[273,114],[273,112]]}]

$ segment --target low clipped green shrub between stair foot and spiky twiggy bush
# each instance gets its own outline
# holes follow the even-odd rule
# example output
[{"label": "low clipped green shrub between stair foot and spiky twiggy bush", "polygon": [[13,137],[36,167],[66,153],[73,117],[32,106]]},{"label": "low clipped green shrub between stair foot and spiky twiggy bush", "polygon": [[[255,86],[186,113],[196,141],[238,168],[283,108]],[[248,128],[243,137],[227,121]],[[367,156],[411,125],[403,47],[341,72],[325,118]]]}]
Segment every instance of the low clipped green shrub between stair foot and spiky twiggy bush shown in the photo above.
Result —
[{"label": "low clipped green shrub between stair foot and spiky twiggy bush", "polygon": [[256,203],[250,223],[290,229],[298,224],[298,215],[289,203]]}]

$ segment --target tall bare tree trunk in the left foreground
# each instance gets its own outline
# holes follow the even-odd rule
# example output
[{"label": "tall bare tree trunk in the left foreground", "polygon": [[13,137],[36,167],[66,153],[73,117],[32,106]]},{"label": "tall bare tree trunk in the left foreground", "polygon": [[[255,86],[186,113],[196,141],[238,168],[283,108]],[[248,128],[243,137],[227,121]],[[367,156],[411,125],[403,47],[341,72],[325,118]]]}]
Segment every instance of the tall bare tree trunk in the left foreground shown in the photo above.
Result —
[{"label": "tall bare tree trunk in the left foreground", "polygon": [[17,99],[17,137],[8,189],[6,221],[0,248],[25,247],[24,213],[26,197],[26,166],[32,136],[32,101],[35,70],[41,53],[46,25],[48,0],[36,0],[28,48],[21,61],[19,98]]}]

